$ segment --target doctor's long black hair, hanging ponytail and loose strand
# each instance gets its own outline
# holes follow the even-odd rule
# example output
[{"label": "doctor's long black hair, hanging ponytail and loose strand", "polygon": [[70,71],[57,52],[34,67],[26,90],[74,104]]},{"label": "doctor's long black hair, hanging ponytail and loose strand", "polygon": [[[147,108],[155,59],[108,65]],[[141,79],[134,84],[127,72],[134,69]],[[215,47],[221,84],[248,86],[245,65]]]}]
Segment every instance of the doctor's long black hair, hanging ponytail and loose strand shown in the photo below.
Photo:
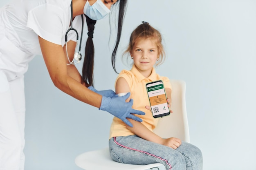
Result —
[{"label": "doctor's long black hair, hanging ponytail and loose strand", "polygon": [[[118,0],[118,1],[119,1],[119,15],[118,15],[118,27],[117,27],[117,39],[115,42],[115,48],[112,52],[112,58],[111,58],[112,67],[116,73],[117,71],[115,67],[115,59],[116,59],[117,48],[121,38],[121,31],[122,31],[123,20],[124,20],[126,4],[127,4],[127,0]],[[85,85],[88,87],[88,86],[93,86],[94,44],[93,44],[92,38],[93,38],[93,31],[94,31],[94,25],[96,24],[96,20],[92,20],[86,15],[85,17],[86,17],[86,23],[88,26],[88,38],[85,45],[85,57],[83,61],[81,83],[82,84],[85,83]]]}]

